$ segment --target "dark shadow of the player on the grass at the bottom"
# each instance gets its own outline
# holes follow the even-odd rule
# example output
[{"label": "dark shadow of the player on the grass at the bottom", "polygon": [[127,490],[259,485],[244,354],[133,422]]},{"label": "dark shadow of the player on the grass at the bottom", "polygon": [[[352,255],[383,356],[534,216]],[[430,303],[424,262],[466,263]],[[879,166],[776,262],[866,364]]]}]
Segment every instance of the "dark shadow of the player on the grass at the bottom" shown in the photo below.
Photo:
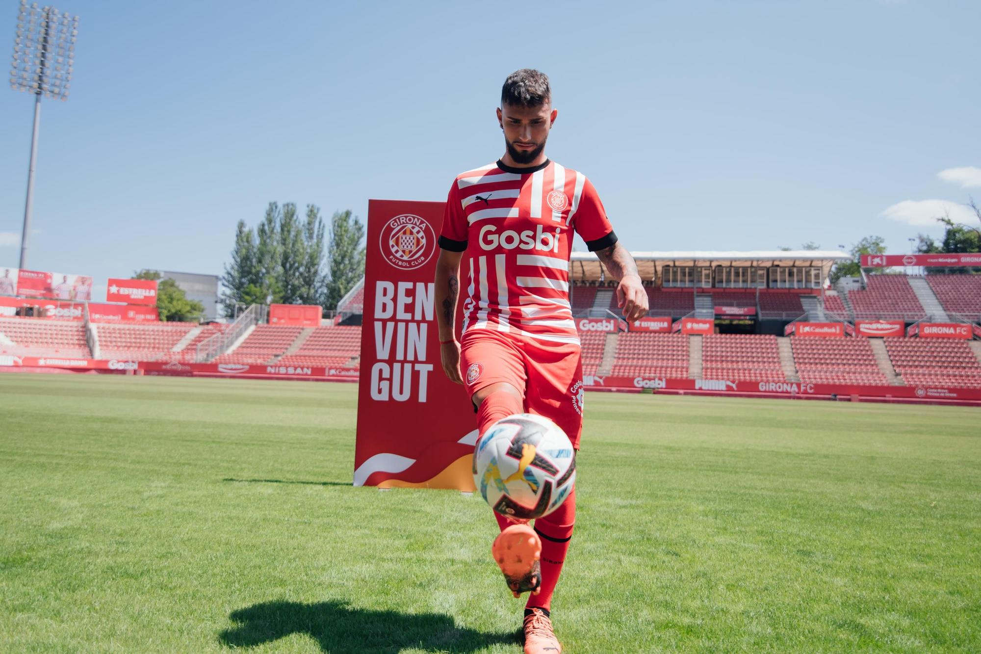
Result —
[{"label": "dark shadow of the player on the grass at the bottom", "polygon": [[484,633],[456,627],[450,616],[356,609],[346,602],[263,602],[232,611],[236,627],[219,639],[229,647],[251,647],[292,633],[307,633],[331,654],[385,652],[413,647],[427,651],[474,652],[497,643],[518,643],[517,632]]}]

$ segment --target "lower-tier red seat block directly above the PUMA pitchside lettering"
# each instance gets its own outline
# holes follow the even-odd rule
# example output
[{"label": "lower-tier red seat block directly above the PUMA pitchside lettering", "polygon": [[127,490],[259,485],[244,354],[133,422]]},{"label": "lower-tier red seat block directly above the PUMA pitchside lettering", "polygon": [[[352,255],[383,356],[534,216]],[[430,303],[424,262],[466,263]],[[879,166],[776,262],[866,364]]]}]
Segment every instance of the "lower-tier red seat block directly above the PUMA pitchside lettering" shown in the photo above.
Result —
[{"label": "lower-tier red seat block directly above the PUMA pitchside lettering", "polygon": [[707,334],[701,342],[702,377],[730,381],[785,381],[777,337]]}]

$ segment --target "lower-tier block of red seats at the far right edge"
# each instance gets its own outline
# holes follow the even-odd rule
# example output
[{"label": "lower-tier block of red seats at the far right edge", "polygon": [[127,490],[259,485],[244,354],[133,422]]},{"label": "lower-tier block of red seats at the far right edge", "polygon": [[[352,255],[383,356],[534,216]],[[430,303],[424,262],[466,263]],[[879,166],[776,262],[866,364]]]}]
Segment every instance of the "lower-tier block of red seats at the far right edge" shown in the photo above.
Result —
[{"label": "lower-tier block of red seats at the far right edge", "polygon": [[886,350],[909,386],[981,388],[981,365],[966,341],[886,339]]}]

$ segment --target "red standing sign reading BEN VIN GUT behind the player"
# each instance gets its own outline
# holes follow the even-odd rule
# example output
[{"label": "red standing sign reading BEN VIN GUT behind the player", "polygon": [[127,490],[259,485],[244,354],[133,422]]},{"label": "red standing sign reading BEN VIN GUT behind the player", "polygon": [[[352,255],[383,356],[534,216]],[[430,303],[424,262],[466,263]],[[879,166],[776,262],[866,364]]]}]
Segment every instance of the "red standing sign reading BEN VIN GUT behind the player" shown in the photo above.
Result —
[{"label": "red standing sign reading BEN VIN GUT behind the player", "polygon": [[477,418],[439,361],[433,280],[444,206],[368,203],[355,486],[474,490]]}]

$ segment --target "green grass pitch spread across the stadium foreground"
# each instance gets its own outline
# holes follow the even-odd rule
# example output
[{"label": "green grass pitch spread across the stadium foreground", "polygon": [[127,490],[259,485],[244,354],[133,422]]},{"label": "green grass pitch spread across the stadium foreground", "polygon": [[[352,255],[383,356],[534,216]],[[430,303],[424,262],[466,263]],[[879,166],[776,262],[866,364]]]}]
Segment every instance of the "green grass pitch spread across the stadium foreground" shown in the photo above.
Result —
[{"label": "green grass pitch spread across the stadium foreground", "polygon": [[[354,385],[0,398],[0,651],[521,651],[479,497],[351,487]],[[981,651],[981,409],[590,394],[583,446],[570,654]]]}]

